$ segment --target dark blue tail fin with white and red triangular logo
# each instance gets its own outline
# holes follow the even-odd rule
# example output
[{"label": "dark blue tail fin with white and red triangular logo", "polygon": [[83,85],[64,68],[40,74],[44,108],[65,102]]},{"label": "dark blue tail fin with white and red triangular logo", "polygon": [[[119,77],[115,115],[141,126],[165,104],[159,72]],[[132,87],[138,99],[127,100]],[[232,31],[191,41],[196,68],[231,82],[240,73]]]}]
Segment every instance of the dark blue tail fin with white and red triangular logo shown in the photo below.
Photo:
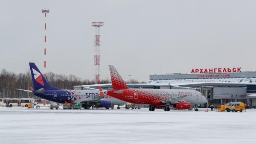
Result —
[{"label": "dark blue tail fin with white and red triangular logo", "polygon": [[54,90],[58,89],[54,86],[48,84],[47,80],[44,78],[44,75],[39,71],[35,63],[29,63],[32,81],[34,85],[34,89],[38,90],[44,88],[45,90]]}]

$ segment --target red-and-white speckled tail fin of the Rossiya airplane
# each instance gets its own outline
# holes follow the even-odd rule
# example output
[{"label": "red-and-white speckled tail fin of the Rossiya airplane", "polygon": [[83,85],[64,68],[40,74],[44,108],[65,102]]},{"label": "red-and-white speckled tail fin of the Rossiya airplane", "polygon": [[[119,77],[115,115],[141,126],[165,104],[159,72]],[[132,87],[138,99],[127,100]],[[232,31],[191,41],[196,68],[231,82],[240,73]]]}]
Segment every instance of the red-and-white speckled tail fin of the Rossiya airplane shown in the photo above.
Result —
[{"label": "red-and-white speckled tail fin of the Rossiya airplane", "polygon": [[109,65],[109,72],[114,90],[128,89],[128,86],[125,84],[125,81],[119,75],[114,66]]}]

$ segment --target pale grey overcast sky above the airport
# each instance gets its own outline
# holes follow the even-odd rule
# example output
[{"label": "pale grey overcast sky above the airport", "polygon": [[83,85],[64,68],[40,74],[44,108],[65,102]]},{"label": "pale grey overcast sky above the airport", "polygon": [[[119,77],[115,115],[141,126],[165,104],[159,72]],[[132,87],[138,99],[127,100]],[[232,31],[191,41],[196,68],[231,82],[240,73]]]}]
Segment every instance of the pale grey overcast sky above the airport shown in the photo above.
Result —
[{"label": "pale grey overcast sky above the airport", "polygon": [[255,0],[1,0],[0,69],[94,78],[93,21],[101,28],[101,75],[108,65],[148,81],[149,75],[195,68],[256,70]]}]

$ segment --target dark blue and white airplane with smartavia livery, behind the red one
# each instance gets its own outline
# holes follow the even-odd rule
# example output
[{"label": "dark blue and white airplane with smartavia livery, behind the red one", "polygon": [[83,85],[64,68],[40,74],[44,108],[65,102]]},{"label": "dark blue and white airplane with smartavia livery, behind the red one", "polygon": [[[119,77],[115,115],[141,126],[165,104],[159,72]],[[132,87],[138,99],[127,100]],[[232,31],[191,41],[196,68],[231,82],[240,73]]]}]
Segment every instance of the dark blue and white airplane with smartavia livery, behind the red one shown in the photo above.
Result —
[{"label": "dark blue and white airplane with smartavia livery, behind the red one", "polygon": [[[42,73],[39,71],[35,63],[29,63],[29,66],[30,66],[30,71],[32,75],[34,89],[32,90],[18,89],[18,90],[32,92],[34,95],[40,98],[44,98],[49,101],[54,101],[57,103],[82,104],[84,109],[90,109],[91,106],[106,107],[108,109],[113,104],[111,102],[113,98],[107,99],[106,95],[104,95],[100,86],[99,86],[99,89],[91,89],[91,90],[58,89],[57,87],[51,86],[47,82],[47,80],[44,78],[44,75],[42,75]],[[120,100],[118,100],[118,102],[119,101]]]}]

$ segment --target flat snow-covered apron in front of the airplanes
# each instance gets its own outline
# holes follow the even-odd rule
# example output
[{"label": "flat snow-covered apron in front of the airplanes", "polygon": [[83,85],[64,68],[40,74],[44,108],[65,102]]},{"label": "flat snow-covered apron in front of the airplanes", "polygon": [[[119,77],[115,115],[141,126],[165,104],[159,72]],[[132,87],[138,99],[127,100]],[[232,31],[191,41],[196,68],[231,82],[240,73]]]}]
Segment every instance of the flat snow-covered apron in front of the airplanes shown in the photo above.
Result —
[{"label": "flat snow-covered apron in front of the airplanes", "polygon": [[246,112],[0,107],[0,144],[255,144]]}]

